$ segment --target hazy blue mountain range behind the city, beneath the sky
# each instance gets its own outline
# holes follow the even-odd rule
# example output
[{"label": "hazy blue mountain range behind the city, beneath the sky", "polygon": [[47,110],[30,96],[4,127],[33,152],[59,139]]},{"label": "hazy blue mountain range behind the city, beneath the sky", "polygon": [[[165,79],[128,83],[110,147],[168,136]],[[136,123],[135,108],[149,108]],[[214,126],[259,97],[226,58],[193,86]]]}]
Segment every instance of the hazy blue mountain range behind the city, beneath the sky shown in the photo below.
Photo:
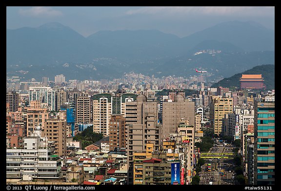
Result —
[{"label": "hazy blue mountain range behind the city, beneath the sky", "polygon": [[66,79],[120,78],[131,71],[188,77],[195,68],[214,78],[229,77],[274,64],[274,49],[274,30],[252,21],[224,22],[185,37],[158,30],[99,31],[84,37],[57,22],[6,29],[7,75],[37,80],[61,73]]}]

